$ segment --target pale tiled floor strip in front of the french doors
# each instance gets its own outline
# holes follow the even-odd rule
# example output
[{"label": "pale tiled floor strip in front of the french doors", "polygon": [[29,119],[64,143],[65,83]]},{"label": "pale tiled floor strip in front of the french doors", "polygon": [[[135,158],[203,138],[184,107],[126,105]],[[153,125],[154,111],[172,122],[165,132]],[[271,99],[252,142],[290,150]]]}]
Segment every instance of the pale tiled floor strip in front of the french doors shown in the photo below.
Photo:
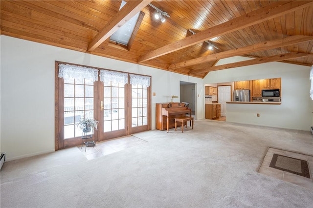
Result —
[{"label": "pale tiled floor strip in front of the french doors", "polygon": [[108,155],[117,151],[121,151],[145,143],[147,143],[147,141],[144,141],[134,136],[127,136],[106,140],[103,142],[96,142],[96,146],[87,147],[86,152],[85,145],[83,145],[83,147],[81,145],[77,147],[86,156],[88,160],[92,160],[98,157],[102,157],[104,155]]}]

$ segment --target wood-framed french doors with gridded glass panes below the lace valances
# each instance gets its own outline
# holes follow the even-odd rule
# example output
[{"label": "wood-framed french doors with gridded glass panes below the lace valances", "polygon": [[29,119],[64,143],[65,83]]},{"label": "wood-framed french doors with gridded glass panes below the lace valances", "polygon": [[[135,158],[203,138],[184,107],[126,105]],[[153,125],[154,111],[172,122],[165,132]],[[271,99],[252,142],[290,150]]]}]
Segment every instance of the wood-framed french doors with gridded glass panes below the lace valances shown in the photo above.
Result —
[{"label": "wood-framed french doors with gridded glass panes below the lace valances", "polygon": [[151,130],[150,86],[58,78],[60,63],[55,78],[55,150],[82,144],[80,118],[99,121],[93,141]]}]

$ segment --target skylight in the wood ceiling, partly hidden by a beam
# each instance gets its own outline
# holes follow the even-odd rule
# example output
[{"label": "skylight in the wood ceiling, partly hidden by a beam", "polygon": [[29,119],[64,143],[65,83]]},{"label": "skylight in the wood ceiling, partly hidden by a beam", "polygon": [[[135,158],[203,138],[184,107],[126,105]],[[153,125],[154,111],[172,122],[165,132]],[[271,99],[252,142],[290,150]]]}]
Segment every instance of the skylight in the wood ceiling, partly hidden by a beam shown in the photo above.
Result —
[{"label": "skylight in the wood ceiling, partly hidden by a beam", "polygon": [[[126,4],[126,1],[122,0],[121,6],[119,10]],[[136,23],[138,21],[140,12],[138,12],[132,19],[127,21],[123,26],[121,26],[115,33],[112,34],[110,37],[110,41],[128,45],[129,40],[131,39],[131,36],[134,32],[134,28],[136,26]]]}]

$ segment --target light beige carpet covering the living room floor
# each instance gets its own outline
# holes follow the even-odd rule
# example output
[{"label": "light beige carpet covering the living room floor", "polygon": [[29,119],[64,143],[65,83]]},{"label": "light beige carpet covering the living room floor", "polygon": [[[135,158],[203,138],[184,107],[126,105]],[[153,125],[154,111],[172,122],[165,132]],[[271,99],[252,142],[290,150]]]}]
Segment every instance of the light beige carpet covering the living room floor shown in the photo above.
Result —
[{"label": "light beige carpet covering the living room floor", "polygon": [[135,136],[148,143],[93,160],[73,147],[6,162],[1,208],[312,208],[312,189],[257,172],[268,146],[312,154],[309,131],[202,120]]}]

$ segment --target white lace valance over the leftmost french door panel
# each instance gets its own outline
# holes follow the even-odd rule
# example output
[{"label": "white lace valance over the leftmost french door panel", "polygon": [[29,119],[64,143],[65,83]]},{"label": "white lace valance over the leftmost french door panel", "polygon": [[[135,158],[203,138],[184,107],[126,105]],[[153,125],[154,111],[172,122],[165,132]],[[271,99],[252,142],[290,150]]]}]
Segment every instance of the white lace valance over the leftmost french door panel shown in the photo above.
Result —
[{"label": "white lace valance over the leftmost french door panel", "polygon": [[59,65],[59,77],[63,79],[87,79],[91,82],[98,80],[98,69],[87,68],[84,66],[76,66],[69,64]]}]

